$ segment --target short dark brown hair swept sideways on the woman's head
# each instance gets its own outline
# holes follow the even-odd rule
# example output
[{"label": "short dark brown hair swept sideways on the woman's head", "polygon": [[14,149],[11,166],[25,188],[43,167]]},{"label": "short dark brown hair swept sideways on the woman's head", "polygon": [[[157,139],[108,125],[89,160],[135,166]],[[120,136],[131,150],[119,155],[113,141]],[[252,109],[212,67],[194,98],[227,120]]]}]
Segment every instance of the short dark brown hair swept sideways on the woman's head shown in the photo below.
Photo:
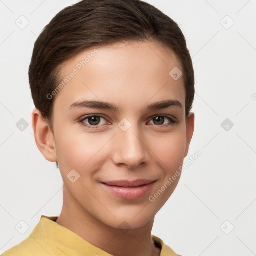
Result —
[{"label": "short dark brown hair swept sideways on the woman's head", "polygon": [[185,82],[185,113],[194,99],[194,70],[185,37],[176,22],[142,0],[82,0],[58,12],[34,43],[29,84],[35,107],[51,120],[60,65],[96,46],[123,40],[151,40],[172,49],[182,64]]}]

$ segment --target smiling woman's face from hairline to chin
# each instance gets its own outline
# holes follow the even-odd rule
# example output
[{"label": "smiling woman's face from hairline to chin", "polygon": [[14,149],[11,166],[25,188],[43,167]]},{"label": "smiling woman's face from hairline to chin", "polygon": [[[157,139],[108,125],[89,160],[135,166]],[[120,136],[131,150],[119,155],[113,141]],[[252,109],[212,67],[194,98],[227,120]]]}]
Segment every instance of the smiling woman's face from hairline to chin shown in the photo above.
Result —
[{"label": "smiling woman's face from hairline to chin", "polygon": [[87,49],[62,66],[53,105],[59,169],[69,198],[111,227],[145,225],[180,178],[193,115],[186,120],[173,68],[182,70],[173,51],[149,41]]}]

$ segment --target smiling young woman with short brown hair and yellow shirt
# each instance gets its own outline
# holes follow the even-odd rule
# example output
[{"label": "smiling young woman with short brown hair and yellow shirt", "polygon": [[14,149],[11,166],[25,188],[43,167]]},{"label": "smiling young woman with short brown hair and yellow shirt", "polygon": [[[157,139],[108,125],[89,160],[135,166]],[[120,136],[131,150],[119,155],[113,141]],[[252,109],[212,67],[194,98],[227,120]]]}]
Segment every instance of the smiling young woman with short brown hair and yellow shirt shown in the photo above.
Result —
[{"label": "smiling young woman with short brown hair and yellow shirt", "polygon": [[178,25],[140,0],[80,1],[36,40],[29,82],[35,142],[59,167],[63,207],[2,255],[177,255],[151,230],[194,129]]}]

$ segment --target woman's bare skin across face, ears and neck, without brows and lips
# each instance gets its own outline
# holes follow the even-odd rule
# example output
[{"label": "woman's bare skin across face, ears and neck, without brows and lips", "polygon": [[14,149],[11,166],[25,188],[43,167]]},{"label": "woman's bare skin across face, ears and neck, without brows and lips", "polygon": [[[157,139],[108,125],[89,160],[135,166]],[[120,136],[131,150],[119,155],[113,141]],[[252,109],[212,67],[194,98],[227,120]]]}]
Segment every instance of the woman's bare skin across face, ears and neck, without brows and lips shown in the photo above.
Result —
[{"label": "woman's bare skin across face, ears and neck, without brows and lips", "polygon": [[[62,65],[64,78],[90,54],[86,49]],[[91,244],[118,256],[159,255],[151,239],[155,214],[173,193],[178,180],[155,199],[149,196],[166,184],[182,165],[194,130],[194,114],[185,118],[183,76],[169,72],[181,63],[168,47],[152,41],[118,42],[97,47],[99,52],[55,96],[53,130],[34,109],[32,124],[37,147],[48,161],[58,161],[63,178],[63,207],[57,223]],[[178,100],[182,107],[145,110],[147,104]],[[80,100],[100,100],[119,111],[69,106]],[[88,114],[102,114],[97,127],[78,123]],[[157,115],[174,117],[177,123]],[[127,131],[118,123],[126,118]],[[90,119],[84,123],[93,126]],[[92,123],[92,124],[91,124]],[[94,126],[95,127],[95,126]],[[72,183],[67,174],[80,178]],[[151,190],[136,200],[116,197],[102,187],[104,180],[156,179]],[[71,221],[70,221],[71,220]],[[124,232],[119,225],[126,221]]]}]

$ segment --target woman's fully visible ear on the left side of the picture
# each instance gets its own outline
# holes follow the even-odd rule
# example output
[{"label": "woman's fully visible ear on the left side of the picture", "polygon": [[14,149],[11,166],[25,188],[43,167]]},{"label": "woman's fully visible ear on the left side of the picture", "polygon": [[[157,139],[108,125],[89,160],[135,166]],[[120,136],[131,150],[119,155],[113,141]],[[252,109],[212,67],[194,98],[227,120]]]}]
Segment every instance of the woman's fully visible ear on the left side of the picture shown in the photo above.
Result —
[{"label": "woman's fully visible ear on the left side of the picture", "polygon": [[37,108],[32,112],[32,125],[34,139],[38,149],[46,160],[56,162],[57,157],[54,135]]}]

